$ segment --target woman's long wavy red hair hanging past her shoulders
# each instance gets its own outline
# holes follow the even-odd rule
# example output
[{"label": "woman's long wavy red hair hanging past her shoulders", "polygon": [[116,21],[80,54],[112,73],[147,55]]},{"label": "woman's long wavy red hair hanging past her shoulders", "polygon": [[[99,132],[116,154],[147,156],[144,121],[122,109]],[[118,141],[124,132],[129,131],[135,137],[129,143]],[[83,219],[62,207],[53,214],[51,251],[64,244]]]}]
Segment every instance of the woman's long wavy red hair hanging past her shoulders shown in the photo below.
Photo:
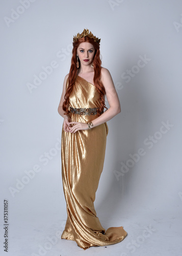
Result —
[{"label": "woman's long wavy red hair hanging past her shoulders", "polygon": [[[84,36],[84,37],[80,38],[79,40],[73,42],[71,67],[70,67],[69,76],[68,76],[68,87],[67,87],[67,90],[66,90],[66,93],[64,96],[65,100],[63,102],[63,110],[65,111],[64,115],[67,115],[70,113],[70,111],[68,110],[69,96],[70,96],[70,93],[74,86],[74,81],[75,81],[76,72],[77,72],[76,53],[77,53],[77,48],[79,47],[81,42],[90,42],[90,44],[92,44],[95,49],[95,54],[93,57],[93,68],[94,68],[93,82],[96,87],[96,90],[100,94],[100,99],[99,99],[100,108],[97,111],[98,115],[100,115],[100,113],[103,111],[104,108],[108,109],[105,105],[105,99],[103,98],[106,91],[105,91],[105,88],[103,87],[102,82],[100,81],[100,76],[101,76],[101,60],[100,60],[100,49],[99,49],[100,46],[99,46],[98,42],[94,41],[89,36]],[[79,60],[79,62],[80,62],[80,60]]]}]

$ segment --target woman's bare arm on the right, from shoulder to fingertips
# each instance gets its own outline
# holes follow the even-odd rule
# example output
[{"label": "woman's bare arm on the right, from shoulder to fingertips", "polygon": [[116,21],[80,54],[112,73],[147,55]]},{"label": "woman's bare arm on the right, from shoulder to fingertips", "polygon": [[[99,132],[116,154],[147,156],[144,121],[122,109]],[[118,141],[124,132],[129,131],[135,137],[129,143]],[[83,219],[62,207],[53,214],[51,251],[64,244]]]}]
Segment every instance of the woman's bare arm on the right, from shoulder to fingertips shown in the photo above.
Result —
[{"label": "woman's bare arm on the right, from shoulder to fingertips", "polygon": [[[114,116],[121,112],[119,98],[114,87],[113,79],[109,70],[102,68],[101,69],[101,82],[105,87],[106,97],[108,99],[108,103],[110,108],[104,112],[102,115],[97,117],[92,121],[93,127],[105,123],[112,119]],[[69,122],[70,124],[75,124],[71,127],[70,132],[76,132],[79,130],[88,130],[88,125],[86,123],[78,123],[78,122]]]}]

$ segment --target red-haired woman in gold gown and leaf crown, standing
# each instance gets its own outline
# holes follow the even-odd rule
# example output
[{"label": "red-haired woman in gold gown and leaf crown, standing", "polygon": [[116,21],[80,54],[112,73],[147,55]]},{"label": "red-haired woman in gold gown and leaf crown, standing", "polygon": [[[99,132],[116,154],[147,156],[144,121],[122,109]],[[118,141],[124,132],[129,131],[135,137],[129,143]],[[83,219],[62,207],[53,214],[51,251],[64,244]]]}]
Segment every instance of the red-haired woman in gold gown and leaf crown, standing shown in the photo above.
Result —
[{"label": "red-haired woman in gold gown and leaf crown, standing", "polygon": [[105,159],[106,122],[120,113],[112,77],[101,67],[99,43],[86,29],[73,37],[71,67],[58,107],[64,118],[61,158],[68,215],[61,238],[83,249],[118,243],[127,234],[123,227],[105,230],[93,204]]}]

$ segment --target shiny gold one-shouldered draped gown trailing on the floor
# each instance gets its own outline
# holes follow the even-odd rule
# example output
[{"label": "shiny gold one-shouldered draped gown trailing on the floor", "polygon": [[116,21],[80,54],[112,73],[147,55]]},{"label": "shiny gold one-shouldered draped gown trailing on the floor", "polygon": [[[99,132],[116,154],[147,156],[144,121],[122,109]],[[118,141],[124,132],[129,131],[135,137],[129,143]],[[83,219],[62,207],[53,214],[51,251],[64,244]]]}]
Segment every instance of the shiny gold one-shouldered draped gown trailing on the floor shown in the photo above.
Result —
[{"label": "shiny gold one-shouldered draped gown trailing on the floor", "polygon": [[[66,82],[66,89],[68,80]],[[99,93],[95,86],[77,76],[70,94],[71,108],[98,108]],[[98,115],[70,112],[71,121],[88,122]],[[105,230],[94,209],[95,193],[105,159],[107,123],[91,130],[66,133],[62,129],[61,159],[67,221],[61,239],[73,240],[84,250],[121,242],[127,235],[123,227]]]}]

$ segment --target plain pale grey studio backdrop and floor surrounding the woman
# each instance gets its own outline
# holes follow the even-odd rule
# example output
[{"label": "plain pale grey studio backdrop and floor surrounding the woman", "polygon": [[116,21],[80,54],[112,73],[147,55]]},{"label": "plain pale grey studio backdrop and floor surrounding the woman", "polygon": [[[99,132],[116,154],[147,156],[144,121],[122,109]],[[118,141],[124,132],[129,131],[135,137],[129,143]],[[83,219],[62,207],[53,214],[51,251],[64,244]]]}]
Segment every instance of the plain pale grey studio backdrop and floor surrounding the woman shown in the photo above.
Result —
[{"label": "plain pale grey studio backdrop and floor surrounding the woman", "polygon": [[[181,255],[180,0],[1,0],[1,255]],[[118,244],[61,240],[67,212],[58,114],[72,38],[101,38],[121,113],[108,121],[95,209]],[[8,201],[8,253],[4,251]]]}]

